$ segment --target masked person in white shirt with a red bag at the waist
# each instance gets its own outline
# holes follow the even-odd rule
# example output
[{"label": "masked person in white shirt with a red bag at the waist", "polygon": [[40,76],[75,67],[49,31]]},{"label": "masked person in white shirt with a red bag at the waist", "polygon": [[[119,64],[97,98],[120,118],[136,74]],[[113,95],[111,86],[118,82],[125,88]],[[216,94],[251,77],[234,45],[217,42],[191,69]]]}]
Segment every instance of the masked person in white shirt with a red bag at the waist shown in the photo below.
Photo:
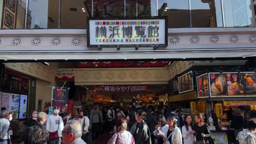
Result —
[{"label": "masked person in white shirt with a red bag at the waist", "polygon": [[60,144],[61,143],[61,131],[64,128],[62,118],[59,116],[60,107],[54,106],[54,113],[48,117],[46,121],[46,130],[49,131],[49,143]]}]

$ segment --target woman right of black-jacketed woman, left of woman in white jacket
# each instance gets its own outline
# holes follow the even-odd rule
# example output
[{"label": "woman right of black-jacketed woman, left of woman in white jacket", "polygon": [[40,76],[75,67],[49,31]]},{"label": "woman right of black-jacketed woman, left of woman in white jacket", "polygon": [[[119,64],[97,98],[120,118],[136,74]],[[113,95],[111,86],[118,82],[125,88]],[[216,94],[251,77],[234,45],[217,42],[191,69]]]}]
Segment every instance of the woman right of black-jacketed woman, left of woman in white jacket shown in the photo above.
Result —
[{"label": "woman right of black-jacketed woman, left of woman in white jacket", "polygon": [[167,130],[169,129],[169,125],[166,122],[165,116],[164,115],[160,115],[158,116],[158,125],[155,126],[155,130],[153,132],[154,136],[157,136],[158,139],[155,141],[155,143],[159,143],[162,144],[164,143],[164,139],[162,139],[161,135],[159,135],[160,131],[162,133],[165,133]]}]

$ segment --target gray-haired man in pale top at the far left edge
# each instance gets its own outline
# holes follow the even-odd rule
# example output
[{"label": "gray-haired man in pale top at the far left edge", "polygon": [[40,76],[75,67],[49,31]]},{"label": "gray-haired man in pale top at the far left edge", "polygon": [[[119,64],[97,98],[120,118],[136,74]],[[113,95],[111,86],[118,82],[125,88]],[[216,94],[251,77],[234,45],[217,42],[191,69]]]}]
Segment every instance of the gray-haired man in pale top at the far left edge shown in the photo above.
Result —
[{"label": "gray-haired man in pale top at the far left edge", "polygon": [[7,110],[3,110],[1,112],[0,118],[0,144],[7,144],[8,142],[8,129],[9,129],[9,112]]}]

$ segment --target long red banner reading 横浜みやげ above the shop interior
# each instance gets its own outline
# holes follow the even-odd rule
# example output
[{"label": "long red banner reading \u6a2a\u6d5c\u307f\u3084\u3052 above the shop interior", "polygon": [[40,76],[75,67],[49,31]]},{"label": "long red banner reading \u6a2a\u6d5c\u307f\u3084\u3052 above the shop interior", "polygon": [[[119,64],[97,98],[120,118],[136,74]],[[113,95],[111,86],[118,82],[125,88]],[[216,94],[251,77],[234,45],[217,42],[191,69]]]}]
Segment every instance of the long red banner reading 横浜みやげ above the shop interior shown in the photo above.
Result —
[{"label": "long red banner reading \u6a2a\u6d5c\u307f\u3084\u3052 above the shop interior", "polygon": [[147,91],[146,85],[110,85],[94,86],[94,92],[141,92]]}]

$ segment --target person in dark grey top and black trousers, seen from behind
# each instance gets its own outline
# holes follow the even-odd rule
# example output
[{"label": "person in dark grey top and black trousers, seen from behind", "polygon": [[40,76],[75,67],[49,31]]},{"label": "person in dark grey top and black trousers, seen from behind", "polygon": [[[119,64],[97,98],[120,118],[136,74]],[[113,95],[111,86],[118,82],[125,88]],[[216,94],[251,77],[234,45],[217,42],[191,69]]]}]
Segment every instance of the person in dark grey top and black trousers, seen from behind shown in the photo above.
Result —
[{"label": "person in dark grey top and black trousers, seen from behind", "polygon": [[97,105],[92,106],[92,110],[90,112],[90,121],[91,121],[91,133],[92,133],[92,142],[94,142],[98,134],[100,133],[101,123],[103,122],[102,112],[100,109],[97,109]]}]

